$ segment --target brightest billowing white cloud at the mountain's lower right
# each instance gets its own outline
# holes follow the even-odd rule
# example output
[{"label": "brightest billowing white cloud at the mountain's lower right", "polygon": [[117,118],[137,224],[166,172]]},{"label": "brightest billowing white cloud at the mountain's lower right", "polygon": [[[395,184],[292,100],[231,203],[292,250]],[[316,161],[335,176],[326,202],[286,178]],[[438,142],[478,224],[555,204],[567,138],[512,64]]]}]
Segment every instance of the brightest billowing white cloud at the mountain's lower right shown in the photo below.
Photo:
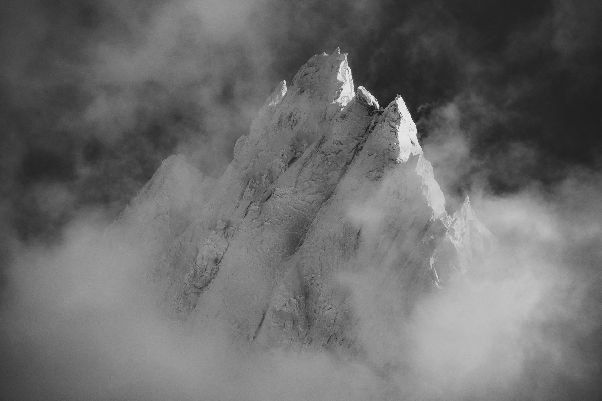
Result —
[{"label": "brightest billowing white cloud at the mountain's lower right", "polygon": [[497,250],[469,277],[424,295],[409,315],[400,289],[383,285],[379,272],[341,277],[361,316],[358,342],[389,393],[447,400],[600,396],[599,178],[578,171],[553,189],[471,194],[498,237]]}]

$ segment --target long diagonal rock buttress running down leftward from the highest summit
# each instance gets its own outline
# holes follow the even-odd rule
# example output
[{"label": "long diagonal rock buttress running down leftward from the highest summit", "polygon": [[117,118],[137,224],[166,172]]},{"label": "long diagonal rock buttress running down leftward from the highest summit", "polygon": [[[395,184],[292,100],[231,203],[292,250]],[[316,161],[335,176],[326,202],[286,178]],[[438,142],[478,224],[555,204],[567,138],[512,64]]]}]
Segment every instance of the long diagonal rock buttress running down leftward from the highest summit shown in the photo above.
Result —
[{"label": "long diagonal rock buttress running down leftward from the highest summit", "polygon": [[[211,283],[232,240],[235,226],[265,191],[327,132],[335,114],[355,96],[347,55],[335,51],[306,63],[285,91],[285,82],[268,97],[249,135],[239,139],[235,157],[217,184],[218,192],[189,232],[200,243],[190,279],[177,299],[184,314]],[[219,228],[223,226],[223,228]]]}]

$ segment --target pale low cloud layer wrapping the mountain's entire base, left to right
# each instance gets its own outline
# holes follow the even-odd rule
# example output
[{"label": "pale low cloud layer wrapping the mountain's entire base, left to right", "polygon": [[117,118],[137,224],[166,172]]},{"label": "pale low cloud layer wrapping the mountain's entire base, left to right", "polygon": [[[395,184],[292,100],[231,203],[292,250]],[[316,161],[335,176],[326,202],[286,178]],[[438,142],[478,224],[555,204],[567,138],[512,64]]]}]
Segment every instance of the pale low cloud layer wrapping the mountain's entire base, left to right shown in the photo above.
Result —
[{"label": "pale low cloud layer wrapping the mountain's entire base, left to right", "polygon": [[58,245],[14,243],[1,310],[5,391],[48,400],[597,399],[600,195],[599,176],[583,171],[552,191],[475,195],[497,251],[409,316],[374,276],[342,277],[367,364],[330,352],[263,354],[220,328],[170,320],[145,278],[146,256],[118,236],[99,242],[104,226],[82,218]]}]

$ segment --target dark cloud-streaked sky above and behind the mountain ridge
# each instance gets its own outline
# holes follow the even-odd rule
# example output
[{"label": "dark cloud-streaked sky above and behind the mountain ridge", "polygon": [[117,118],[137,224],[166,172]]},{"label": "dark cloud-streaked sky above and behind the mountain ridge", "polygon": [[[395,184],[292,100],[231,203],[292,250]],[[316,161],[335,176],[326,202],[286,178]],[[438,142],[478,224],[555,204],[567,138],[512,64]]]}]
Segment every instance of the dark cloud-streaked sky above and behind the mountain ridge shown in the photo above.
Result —
[{"label": "dark cloud-streaked sky above and behind the mountain ridge", "polygon": [[[219,176],[314,54],[401,94],[453,204],[600,170],[602,2],[3,1],[3,235],[112,219],[172,153]],[[589,170],[587,170],[589,169]]]}]

